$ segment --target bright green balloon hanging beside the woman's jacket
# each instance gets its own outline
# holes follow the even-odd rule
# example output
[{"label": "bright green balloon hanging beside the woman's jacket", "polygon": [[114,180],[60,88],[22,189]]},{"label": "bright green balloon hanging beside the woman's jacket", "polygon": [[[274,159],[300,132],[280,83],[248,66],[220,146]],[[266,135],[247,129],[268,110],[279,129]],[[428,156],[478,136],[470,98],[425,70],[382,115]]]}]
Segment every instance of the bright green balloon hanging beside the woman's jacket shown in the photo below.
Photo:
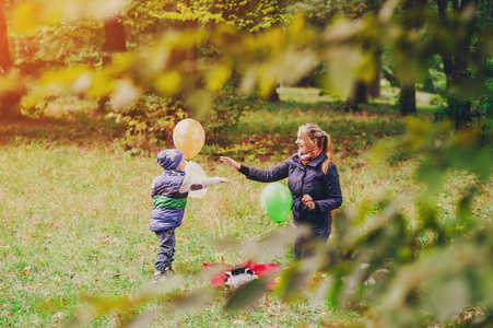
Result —
[{"label": "bright green balloon hanging beside the woman's jacket", "polygon": [[290,189],[281,183],[267,185],[260,192],[263,213],[274,222],[283,222],[293,207]]}]

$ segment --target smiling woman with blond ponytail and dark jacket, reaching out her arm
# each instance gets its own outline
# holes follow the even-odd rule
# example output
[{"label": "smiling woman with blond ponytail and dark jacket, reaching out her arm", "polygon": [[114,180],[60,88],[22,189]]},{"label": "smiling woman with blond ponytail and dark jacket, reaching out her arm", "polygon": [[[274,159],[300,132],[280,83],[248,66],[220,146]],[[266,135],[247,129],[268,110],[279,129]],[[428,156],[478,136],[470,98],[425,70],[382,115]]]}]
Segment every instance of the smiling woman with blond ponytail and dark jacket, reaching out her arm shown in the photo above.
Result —
[{"label": "smiling woman with blond ponytail and dark jacket, reaching out her arm", "polygon": [[293,196],[293,220],[296,226],[305,225],[310,235],[297,233],[294,241],[294,260],[309,255],[303,245],[312,238],[327,243],[332,216],[330,211],[342,204],[339,174],[332,163],[330,136],[316,124],[306,124],[297,132],[297,153],[272,167],[246,167],[230,157],[221,162],[243,173],[248,179],[271,183],[287,178]]}]

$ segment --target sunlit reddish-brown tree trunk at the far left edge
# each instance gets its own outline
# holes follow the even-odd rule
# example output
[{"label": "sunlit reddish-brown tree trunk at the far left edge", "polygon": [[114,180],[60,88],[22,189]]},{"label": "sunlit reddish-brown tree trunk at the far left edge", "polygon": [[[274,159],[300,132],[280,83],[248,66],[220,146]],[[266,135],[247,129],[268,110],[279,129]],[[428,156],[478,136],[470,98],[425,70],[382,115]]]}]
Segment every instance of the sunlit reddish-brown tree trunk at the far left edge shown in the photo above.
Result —
[{"label": "sunlit reddish-brown tree trunk at the far left edge", "polygon": [[[12,58],[7,33],[5,2],[0,0],[0,75],[12,69]],[[13,90],[0,94],[0,118],[17,118],[21,116],[22,91]]]}]

